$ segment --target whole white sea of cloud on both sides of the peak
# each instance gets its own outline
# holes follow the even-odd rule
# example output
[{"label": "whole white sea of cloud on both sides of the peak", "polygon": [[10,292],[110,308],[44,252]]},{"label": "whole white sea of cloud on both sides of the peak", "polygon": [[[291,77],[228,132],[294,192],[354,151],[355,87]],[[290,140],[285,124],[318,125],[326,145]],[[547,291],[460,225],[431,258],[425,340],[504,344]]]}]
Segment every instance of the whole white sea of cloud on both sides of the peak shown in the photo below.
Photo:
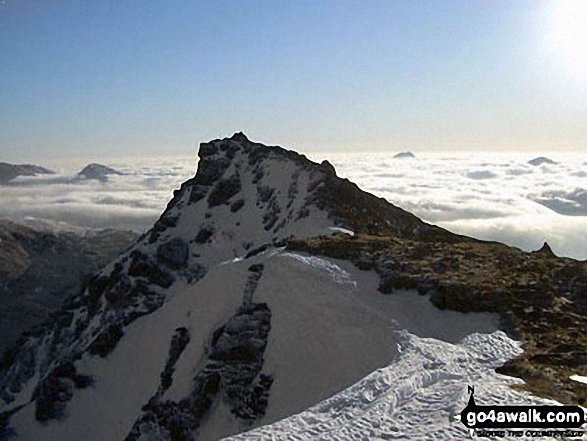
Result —
[{"label": "whole white sea of cloud on both sides of the peak", "polygon": [[[307,156],[328,159],[339,176],[450,231],[524,250],[547,241],[559,255],[587,259],[587,157],[553,154],[556,164],[535,166],[528,154]],[[83,180],[75,178],[81,167],[65,167],[57,175],[0,186],[0,218],[144,231],[173,190],[194,175],[197,157],[104,164],[124,174],[106,182]]]}]

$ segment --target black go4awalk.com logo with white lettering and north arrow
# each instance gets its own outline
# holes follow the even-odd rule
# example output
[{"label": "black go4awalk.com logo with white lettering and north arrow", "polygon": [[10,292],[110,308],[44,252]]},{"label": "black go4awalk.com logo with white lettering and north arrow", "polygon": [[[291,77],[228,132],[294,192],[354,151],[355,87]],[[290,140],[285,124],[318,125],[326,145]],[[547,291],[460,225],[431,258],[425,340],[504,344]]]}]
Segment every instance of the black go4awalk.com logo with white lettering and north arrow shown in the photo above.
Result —
[{"label": "black go4awalk.com logo with white lettering and north arrow", "polygon": [[475,403],[475,389],[469,386],[468,391],[469,403],[461,411],[460,420],[471,435],[557,438],[585,435],[580,430],[585,424],[585,411],[580,406],[479,406]]}]

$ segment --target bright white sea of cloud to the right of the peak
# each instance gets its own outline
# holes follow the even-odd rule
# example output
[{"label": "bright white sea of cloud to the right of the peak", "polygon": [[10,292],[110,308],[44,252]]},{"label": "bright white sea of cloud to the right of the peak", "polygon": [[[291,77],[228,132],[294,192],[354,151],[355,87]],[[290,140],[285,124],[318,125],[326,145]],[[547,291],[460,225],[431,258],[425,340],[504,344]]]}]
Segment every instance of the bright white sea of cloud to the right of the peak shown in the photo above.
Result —
[{"label": "bright white sea of cloud to the right of the peak", "polygon": [[[324,155],[316,159],[325,158]],[[329,158],[338,174],[423,220],[524,250],[546,241],[587,259],[587,156],[552,154],[354,154]]]}]

